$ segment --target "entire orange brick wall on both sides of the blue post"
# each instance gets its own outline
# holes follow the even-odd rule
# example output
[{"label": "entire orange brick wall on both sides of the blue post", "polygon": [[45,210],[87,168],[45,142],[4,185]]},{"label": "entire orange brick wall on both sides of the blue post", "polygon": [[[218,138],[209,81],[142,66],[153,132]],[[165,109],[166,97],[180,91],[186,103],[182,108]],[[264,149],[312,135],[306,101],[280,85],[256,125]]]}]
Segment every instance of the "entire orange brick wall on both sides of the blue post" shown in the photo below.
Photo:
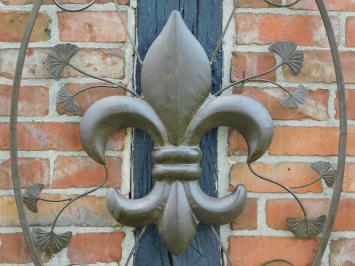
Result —
[{"label": "entire orange brick wall on both sides of the blue post", "polygon": [[[26,264],[30,257],[19,227],[11,190],[8,153],[8,117],[11,85],[16,55],[31,8],[28,0],[0,0],[0,264]],[[73,2],[65,0],[65,3]],[[86,2],[82,0],[82,2]],[[136,1],[121,0],[124,17],[134,32]],[[326,0],[331,10],[339,43],[348,89],[349,116],[355,119],[355,3],[352,0]],[[275,136],[268,153],[256,169],[290,186],[317,178],[313,162],[336,162],[338,138],[337,94],[327,38],[313,0],[301,0],[290,10],[269,8],[261,0],[239,0],[241,8],[228,30],[224,50],[224,84],[240,78],[243,71],[252,74],[275,64],[268,46],[290,40],[305,51],[305,66],[298,77],[285,69],[268,76],[289,88],[304,84],[309,95],[304,106],[288,110],[279,104],[279,89],[269,84],[247,84],[226,92],[244,94],[261,101],[275,120]],[[224,0],[227,19],[233,0]],[[68,5],[70,6],[70,5]],[[66,197],[86,191],[99,183],[103,170],[82,151],[79,141],[80,117],[61,115],[55,98],[61,84],[71,91],[96,81],[66,71],[60,82],[50,79],[45,67],[48,48],[58,42],[75,43],[81,48],[74,62],[102,77],[121,81],[132,88],[132,48],[110,1],[99,0],[89,10],[78,14],[59,11],[50,1],[41,9],[34,29],[24,69],[19,106],[19,155],[22,186],[33,182],[45,184],[45,195]],[[114,29],[114,30],[112,30]],[[78,101],[87,108],[99,98],[122,94],[116,90],[95,90]],[[331,243],[324,265],[355,264],[355,134],[350,120],[348,166],[344,199],[339,207]],[[130,190],[130,130],[113,137],[108,155],[108,186]],[[286,230],[285,218],[299,216],[300,209],[278,187],[258,180],[246,165],[246,147],[234,131],[219,130],[219,193],[224,195],[239,183],[249,190],[247,209],[231,225],[221,230],[229,245],[235,265],[259,265],[273,258],[285,258],[295,265],[311,262],[319,239],[296,240]],[[297,191],[310,216],[328,211],[332,189],[316,183]],[[59,220],[59,232],[71,230],[73,240],[68,249],[53,258],[49,265],[109,264],[125,261],[133,246],[132,229],[122,227],[111,218],[105,206],[105,191],[75,203]],[[31,225],[49,226],[61,204],[40,203],[38,214],[28,213]],[[88,244],[89,243],[89,244]]]}]

